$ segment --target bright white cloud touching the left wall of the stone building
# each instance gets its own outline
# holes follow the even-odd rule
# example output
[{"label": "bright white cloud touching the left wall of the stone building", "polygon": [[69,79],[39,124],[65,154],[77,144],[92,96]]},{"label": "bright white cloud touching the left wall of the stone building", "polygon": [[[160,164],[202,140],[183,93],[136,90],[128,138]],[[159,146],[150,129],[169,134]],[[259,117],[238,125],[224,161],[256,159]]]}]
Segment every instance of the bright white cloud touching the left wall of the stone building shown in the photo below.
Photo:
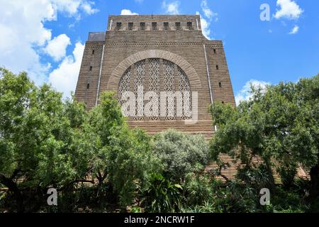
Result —
[{"label": "bright white cloud touching the left wall of the stone building", "polygon": [[77,86],[77,78],[81,67],[84,45],[77,43],[72,55],[65,57],[56,70],[50,73],[48,81],[64,97],[69,97]]}]

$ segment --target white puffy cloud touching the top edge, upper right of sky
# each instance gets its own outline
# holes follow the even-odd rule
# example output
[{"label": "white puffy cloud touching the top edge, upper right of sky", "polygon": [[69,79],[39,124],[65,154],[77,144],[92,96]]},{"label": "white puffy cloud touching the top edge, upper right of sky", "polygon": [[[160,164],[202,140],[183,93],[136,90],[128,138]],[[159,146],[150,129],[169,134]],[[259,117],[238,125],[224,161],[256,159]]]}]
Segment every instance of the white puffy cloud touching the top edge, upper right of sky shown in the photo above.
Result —
[{"label": "white puffy cloud touching the top edge, upper right of sky", "polygon": [[281,9],[277,10],[276,14],[274,15],[276,19],[298,19],[303,13],[303,9],[301,9],[300,6],[298,6],[298,4],[292,0],[277,0],[277,6],[280,6]]}]

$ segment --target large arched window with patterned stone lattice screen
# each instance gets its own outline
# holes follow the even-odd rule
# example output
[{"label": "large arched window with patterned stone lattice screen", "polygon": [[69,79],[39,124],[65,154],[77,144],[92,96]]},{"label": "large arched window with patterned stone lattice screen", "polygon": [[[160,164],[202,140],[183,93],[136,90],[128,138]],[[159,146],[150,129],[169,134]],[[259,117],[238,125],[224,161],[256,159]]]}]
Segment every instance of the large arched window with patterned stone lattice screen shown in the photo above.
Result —
[{"label": "large arched window with patterned stone lattice screen", "polygon": [[[138,93],[138,87],[143,87],[144,94],[146,92],[155,92],[160,99],[160,92],[167,92],[169,94],[174,92],[181,92],[182,105],[188,106],[191,109],[191,89],[189,79],[181,68],[168,60],[159,58],[149,58],[136,62],[128,67],[124,72],[120,84],[118,85],[118,99],[120,104],[124,104],[122,95],[124,92],[133,92],[135,95]],[[188,98],[186,97],[188,96]],[[166,116],[163,120],[177,120],[189,119],[191,116],[181,111],[181,116],[177,116],[177,97],[173,99],[166,99],[167,109]],[[158,100],[158,104],[160,101]],[[144,108],[143,102],[136,101],[136,111],[138,108]],[[142,106],[141,106],[142,105]],[[157,106],[157,109],[160,109]],[[159,121],[159,116],[138,116],[133,117],[133,121]]]}]

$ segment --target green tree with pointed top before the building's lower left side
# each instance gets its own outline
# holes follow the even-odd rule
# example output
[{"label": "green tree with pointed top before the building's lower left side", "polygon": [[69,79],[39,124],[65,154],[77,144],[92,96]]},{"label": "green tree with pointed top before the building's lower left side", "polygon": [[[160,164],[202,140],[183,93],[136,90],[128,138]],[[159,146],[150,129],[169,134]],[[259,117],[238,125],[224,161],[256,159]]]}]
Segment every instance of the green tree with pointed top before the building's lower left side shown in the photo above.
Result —
[{"label": "green tree with pointed top before the building's lower left side", "polygon": [[94,177],[100,185],[108,180],[121,205],[131,204],[138,184],[155,171],[150,138],[128,128],[113,92],[101,95],[99,106],[89,113],[86,130],[99,141],[91,157]]}]

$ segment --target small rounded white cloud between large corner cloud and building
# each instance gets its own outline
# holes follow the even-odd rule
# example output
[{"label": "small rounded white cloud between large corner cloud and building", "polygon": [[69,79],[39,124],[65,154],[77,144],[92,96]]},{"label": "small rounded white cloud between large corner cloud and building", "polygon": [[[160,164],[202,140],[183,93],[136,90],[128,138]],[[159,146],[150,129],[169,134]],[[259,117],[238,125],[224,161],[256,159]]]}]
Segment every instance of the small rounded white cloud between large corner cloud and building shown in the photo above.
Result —
[{"label": "small rounded white cloud between large corner cloud and building", "polygon": [[53,59],[57,62],[61,60],[62,57],[65,57],[65,55],[67,54],[68,45],[71,45],[69,37],[65,34],[62,34],[47,43],[45,52],[53,57]]}]

